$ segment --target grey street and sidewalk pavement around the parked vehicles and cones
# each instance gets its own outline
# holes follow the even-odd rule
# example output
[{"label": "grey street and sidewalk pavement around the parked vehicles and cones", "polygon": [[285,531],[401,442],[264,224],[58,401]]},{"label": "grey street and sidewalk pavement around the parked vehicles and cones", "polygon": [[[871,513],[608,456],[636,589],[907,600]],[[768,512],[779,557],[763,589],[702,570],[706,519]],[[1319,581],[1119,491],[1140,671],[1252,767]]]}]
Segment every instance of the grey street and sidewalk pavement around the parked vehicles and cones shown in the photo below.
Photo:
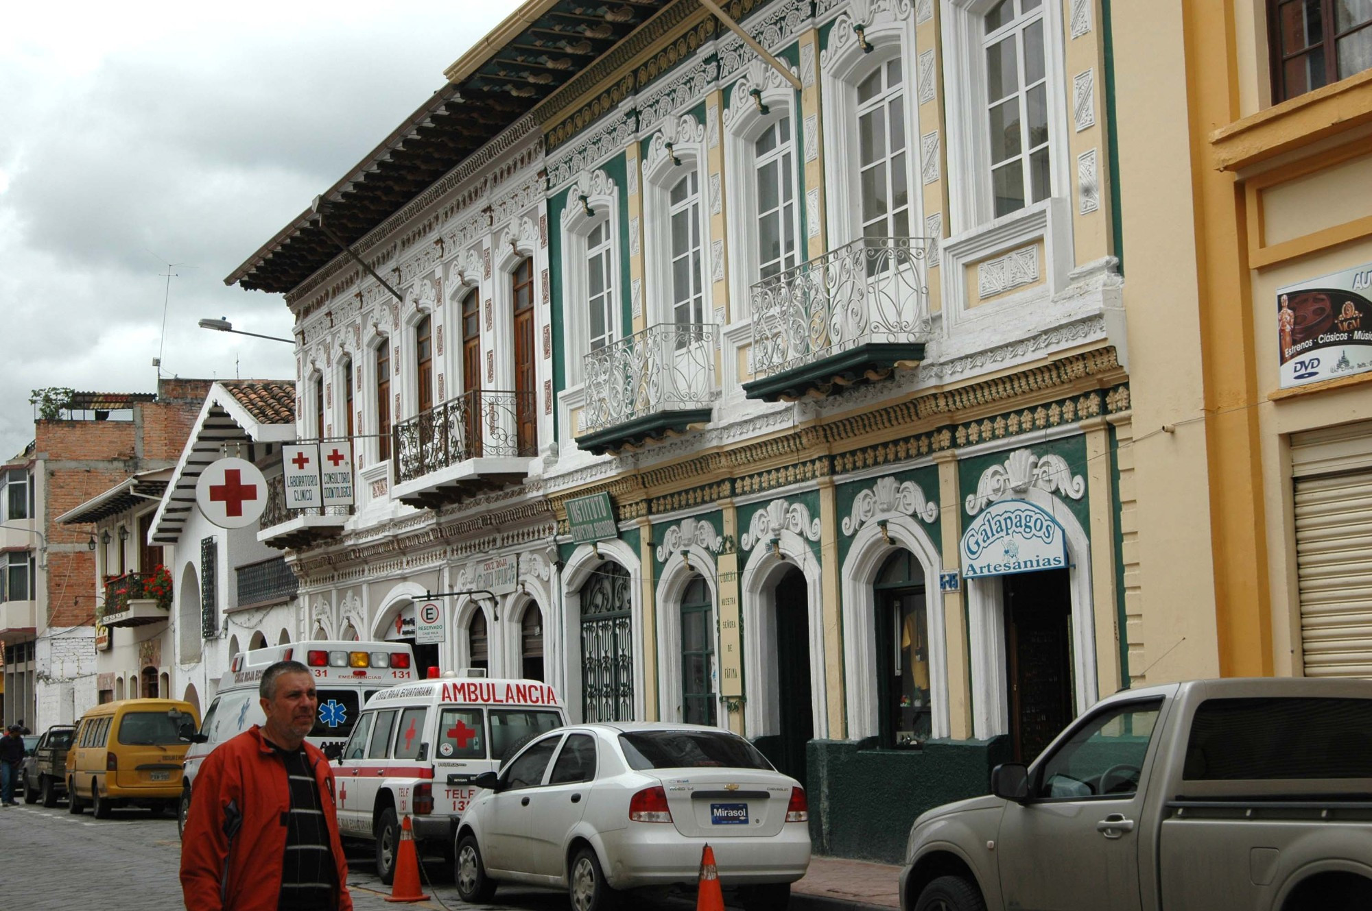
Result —
[{"label": "grey street and sidewalk pavement around the parked vehicles and cones", "polygon": [[[73,816],[64,804],[11,807],[0,812],[0,910],[26,911],[177,911],[184,908],[177,868],[181,841],[176,819],[148,815],[144,809],[115,809],[110,819],[89,814]],[[358,911],[395,908],[386,896],[390,888],[373,873],[370,849],[348,851],[348,888]],[[896,867],[849,860],[816,859],[809,875],[797,884],[792,908],[797,911],[862,911],[895,908]],[[502,886],[491,904],[458,900],[451,877],[439,863],[427,863],[428,901],[414,908],[482,908],[504,911],[563,911],[564,892]],[[807,892],[801,892],[801,890]],[[726,896],[727,899],[729,896]],[[10,904],[14,901],[14,904]],[[694,896],[682,893],[638,896],[626,908],[681,911],[694,907]],[[733,901],[729,903],[733,908]]]}]

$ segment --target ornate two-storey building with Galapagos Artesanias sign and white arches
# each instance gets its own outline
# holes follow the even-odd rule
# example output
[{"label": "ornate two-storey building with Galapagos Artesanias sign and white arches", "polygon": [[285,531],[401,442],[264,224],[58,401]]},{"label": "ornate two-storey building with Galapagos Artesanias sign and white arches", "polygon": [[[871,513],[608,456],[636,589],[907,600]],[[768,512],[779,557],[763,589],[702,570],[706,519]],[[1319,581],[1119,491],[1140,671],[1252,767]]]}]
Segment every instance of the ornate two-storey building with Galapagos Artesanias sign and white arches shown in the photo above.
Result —
[{"label": "ornate two-storey building with Galapagos Artesanias sign and white arches", "polygon": [[228,281],[361,465],[327,631],[436,598],[440,667],[740,731],[893,859],[1135,670],[1106,22],[712,7],[525,4]]}]

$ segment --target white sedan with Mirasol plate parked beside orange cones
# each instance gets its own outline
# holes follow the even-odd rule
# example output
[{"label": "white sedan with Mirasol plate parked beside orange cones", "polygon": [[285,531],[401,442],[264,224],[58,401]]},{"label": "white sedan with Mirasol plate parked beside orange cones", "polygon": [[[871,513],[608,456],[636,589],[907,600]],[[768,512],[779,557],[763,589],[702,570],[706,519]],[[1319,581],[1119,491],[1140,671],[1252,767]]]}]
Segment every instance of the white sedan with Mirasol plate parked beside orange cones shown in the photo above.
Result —
[{"label": "white sedan with Mirasol plate parked beside orange cones", "polygon": [[567,888],[576,911],[601,911],[622,889],[694,885],[709,842],[720,885],[749,911],[781,911],[809,864],[804,789],[718,727],[560,727],[473,783],[484,790],[456,838],[464,901],[510,881]]}]

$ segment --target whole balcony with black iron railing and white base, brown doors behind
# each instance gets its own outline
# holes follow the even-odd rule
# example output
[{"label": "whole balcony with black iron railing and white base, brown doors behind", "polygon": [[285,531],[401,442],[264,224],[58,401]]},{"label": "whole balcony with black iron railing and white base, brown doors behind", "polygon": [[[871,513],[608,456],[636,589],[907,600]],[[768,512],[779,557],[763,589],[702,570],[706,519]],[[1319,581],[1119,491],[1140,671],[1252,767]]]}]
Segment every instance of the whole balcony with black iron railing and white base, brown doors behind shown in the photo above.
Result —
[{"label": "whole balcony with black iron railing and white base, brown doors behind", "polygon": [[391,428],[391,498],[438,509],[519,484],[538,453],[532,392],[472,390]]}]

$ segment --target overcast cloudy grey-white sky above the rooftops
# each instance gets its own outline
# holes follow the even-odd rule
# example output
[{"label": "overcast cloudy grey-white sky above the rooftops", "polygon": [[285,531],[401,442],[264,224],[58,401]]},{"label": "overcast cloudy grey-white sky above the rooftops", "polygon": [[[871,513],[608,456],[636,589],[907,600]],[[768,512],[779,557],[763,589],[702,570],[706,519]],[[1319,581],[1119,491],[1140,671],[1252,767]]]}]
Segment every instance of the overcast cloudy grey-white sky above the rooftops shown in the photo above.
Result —
[{"label": "overcast cloudy grey-white sky above the rooftops", "polygon": [[[30,391],[292,379],[280,295],[224,285],[517,0],[16,3],[0,26],[0,460]],[[159,273],[167,272],[170,280]],[[163,300],[166,333],[163,336]]]}]

